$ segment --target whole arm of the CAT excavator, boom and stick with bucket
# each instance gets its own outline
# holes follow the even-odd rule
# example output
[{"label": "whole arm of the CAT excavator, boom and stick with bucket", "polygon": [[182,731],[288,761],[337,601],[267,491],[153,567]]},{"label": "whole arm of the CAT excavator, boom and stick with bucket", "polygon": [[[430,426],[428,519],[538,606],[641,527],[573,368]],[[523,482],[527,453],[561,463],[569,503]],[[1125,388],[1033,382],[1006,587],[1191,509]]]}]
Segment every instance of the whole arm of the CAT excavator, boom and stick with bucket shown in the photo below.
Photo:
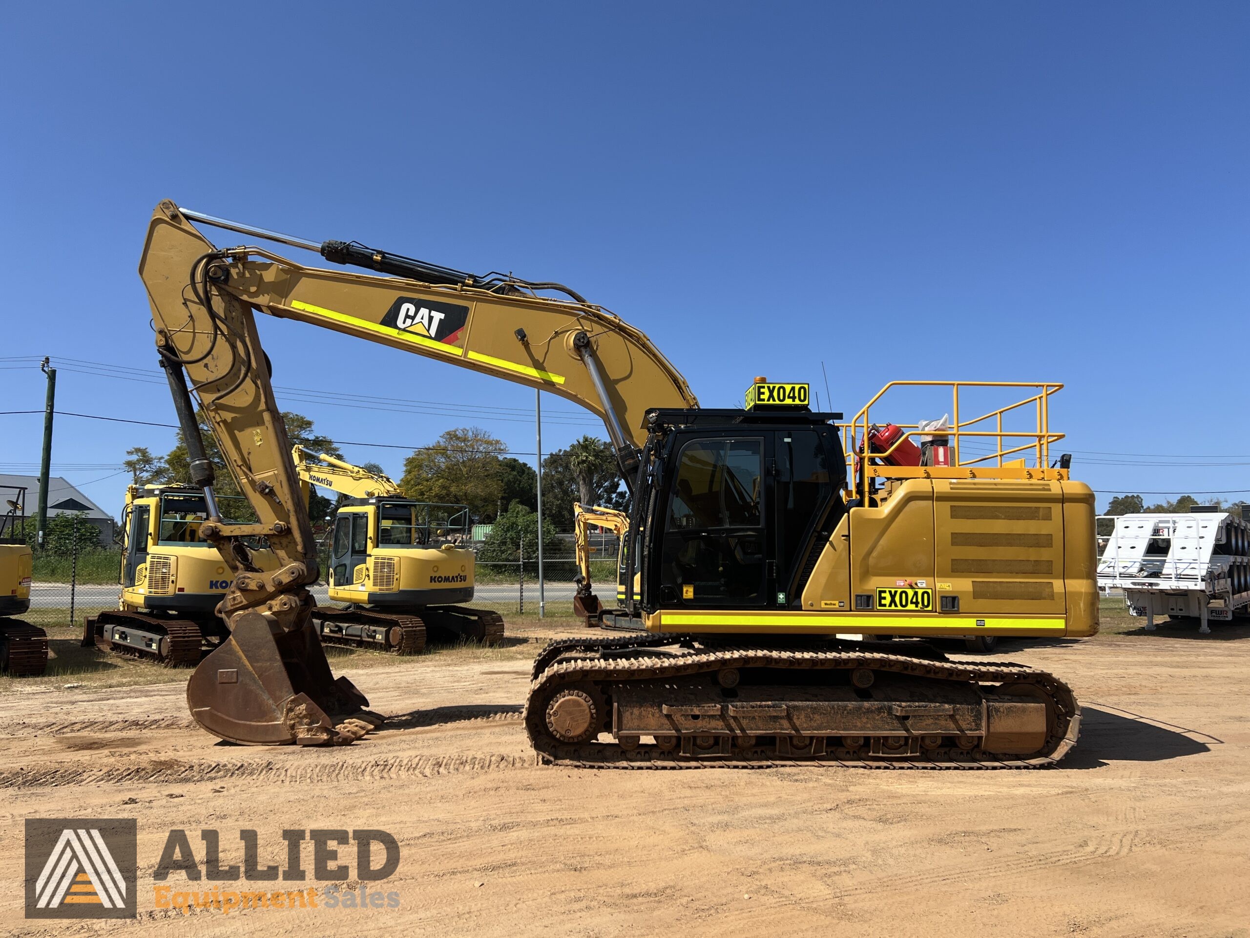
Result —
[{"label": "whole arm of the CAT excavator, boom and stick with bucket", "polygon": [[[304,266],[256,246],[219,249],[192,220],[391,275]],[[209,505],[201,532],[234,573],[219,607],[231,638],[196,669],[188,702],[205,729],[234,742],[348,743],[375,720],[350,682],[334,680],[311,625],[308,587],[319,575],[312,529],[254,310],[572,400],[604,420],[626,483],[646,439],[646,413],[699,405],[641,331],[558,284],[476,278],[354,243],[318,245],[182,211],[168,200],[152,213],[139,273],[192,482]],[[570,299],[539,295],[554,289]],[[256,512],[254,524],[220,518],[192,396]],[[268,539],[276,570],[251,563],[248,544],[256,537]]]}]

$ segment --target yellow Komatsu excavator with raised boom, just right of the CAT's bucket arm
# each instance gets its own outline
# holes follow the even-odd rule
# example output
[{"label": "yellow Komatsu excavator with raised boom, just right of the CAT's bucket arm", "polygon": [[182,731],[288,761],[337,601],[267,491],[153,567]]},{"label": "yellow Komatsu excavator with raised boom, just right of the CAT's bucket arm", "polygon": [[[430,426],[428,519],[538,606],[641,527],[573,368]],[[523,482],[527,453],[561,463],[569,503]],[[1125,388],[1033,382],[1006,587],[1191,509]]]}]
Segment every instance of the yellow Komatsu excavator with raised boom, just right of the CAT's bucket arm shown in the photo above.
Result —
[{"label": "yellow Komatsu excavator with raised boom, just right of the CAT's bucket arm", "polygon": [[456,605],[474,594],[468,505],[416,502],[386,475],[304,446],[291,460],[305,505],[312,485],[349,499],[334,520],[329,572],[330,599],[348,605],[314,610],[322,644],[416,654],[428,632],[499,643],[499,613]]}]

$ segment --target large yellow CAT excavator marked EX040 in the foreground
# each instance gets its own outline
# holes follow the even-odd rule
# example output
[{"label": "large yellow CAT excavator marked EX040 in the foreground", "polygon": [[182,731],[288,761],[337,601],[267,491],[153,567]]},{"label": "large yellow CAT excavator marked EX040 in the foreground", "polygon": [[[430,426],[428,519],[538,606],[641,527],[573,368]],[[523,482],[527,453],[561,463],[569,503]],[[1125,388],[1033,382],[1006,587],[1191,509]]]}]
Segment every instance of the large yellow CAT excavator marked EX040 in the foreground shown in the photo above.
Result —
[{"label": "large yellow CAT excavator marked EX040 in the foreground", "polygon": [[[375,273],[218,248],[196,223]],[[648,634],[558,640],[538,655],[524,725],[542,760],[1035,768],[1075,744],[1080,708],[1052,674],[835,638],[1094,634],[1094,495],[1049,459],[1060,385],[995,385],[1024,396],[990,411],[986,429],[956,408],[950,465],[896,466],[868,440],[896,385],[850,421],[861,428],[851,448],[841,415],[814,413],[806,385],[760,381],[745,409],[704,409],[641,331],[559,284],[318,244],[171,201],[152,213],[139,271],[209,505],[201,534],[235,570],[221,604],[230,638],[188,684],[210,733],[342,744],[381,719],[334,679],[312,625],[315,544],[261,311],[539,388],[604,420],[631,493],[621,582],[638,574],[626,605]],[[956,403],[966,389],[930,384]],[[192,394],[255,524],[221,520]],[[1035,413],[1038,425],[995,428],[1005,413]],[[989,460],[961,460],[962,444],[988,438],[1000,440]],[[1018,450],[1032,464],[1004,464]],[[268,539],[275,569],[254,563],[250,537]]]}]

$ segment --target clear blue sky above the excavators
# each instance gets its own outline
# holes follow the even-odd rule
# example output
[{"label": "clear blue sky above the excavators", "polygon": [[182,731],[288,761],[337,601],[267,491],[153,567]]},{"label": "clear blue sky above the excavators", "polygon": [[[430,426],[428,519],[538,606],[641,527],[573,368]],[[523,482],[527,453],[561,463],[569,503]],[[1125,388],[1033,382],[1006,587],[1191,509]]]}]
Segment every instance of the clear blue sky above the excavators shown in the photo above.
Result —
[{"label": "clear blue sky above the excavators", "polygon": [[[848,413],[891,379],[1062,381],[1052,425],[1095,489],[1250,489],[1244,4],[5,18],[0,356],[155,369],[135,266],[171,198],[569,284],[644,329],[705,406],[738,404],[754,375],[825,398],[821,361]],[[275,384],[422,401],[280,398],[335,439],[479,424],[534,450],[531,390],[260,319]],[[22,364],[0,361],[2,410],[42,406],[39,371],[6,366]],[[174,421],[160,384],[61,364],[58,409]],[[544,449],[602,435],[571,404],[545,408]],[[36,464],[40,418],[0,421],[0,472]],[[111,466],[132,445],[164,453],[172,431],[60,418],[54,465],[116,512]],[[392,473],[404,455],[344,451]]]}]

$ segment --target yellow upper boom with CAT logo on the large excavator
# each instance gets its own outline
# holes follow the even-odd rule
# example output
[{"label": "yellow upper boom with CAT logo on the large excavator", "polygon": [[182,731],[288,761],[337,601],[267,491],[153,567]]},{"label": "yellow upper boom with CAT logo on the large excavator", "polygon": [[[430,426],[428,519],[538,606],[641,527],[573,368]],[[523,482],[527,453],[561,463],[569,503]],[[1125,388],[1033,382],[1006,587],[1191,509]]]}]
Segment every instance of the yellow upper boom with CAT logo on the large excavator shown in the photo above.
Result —
[{"label": "yellow upper boom with CAT logo on the large excavator", "polygon": [[[260,248],[218,251],[191,218],[315,249],[338,263],[408,276],[309,268]],[[214,255],[215,285],[262,313],[494,374],[580,404],[604,420],[622,469],[629,470],[626,484],[646,440],[646,413],[699,406],[685,378],[644,333],[580,298],[538,295],[538,290],[565,289],[556,284],[484,280],[408,259],[401,264],[398,255],[362,251],[341,241],[318,246],[185,213],[165,201],[152,215],[140,264],[149,294],[155,293],[152,280],[162,276],[166,289],[178,291],[172,308],[178,309],[186,284],[178,283],[185,276],[170,276],[178,270],[175,258],[190,265],[206,254]],[[422,273],[432,281],[411,279]],[[200,276],[205,275],[201,270]]]}]

